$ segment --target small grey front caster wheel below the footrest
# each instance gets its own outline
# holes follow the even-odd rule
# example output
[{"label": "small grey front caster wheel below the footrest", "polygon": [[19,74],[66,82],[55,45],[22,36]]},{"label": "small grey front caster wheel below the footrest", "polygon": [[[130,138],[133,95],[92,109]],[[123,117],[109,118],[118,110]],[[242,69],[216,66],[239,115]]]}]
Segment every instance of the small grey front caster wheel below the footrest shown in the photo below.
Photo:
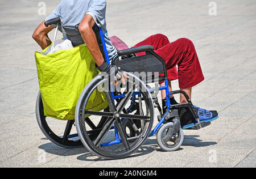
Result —
[{"label": "small grey front caster wheel below the footrest", "polygon": [[168,122],[160,127],[158,134],[156,134],[156,141],[164,151],[176,151],[183,143],[184,134],[182,129],[180,128],[178,133],[171,136],[173,128],[174,123]]}]

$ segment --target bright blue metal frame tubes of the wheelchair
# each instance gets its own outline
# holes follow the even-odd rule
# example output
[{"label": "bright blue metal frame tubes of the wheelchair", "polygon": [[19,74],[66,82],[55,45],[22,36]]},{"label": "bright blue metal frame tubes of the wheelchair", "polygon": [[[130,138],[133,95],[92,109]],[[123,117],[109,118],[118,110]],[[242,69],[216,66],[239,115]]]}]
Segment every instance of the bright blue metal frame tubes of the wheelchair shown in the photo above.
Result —
[{"label": "bright blue metal frame tubes of the wheelchair", "polygon": [[[102,29],[100,27],[98,27],[98,29],[100,31],[100,36],[101,36],[101,41],[102,41],[102,45],[103,45],[103,48],[104,48],[104,53],[105,53],[106,61],[110,64],[109,54],[108,54],[108,50],[106,49],[106,43],[105,43],[104,35],[102,33]],[[164,80],[164,86],[163,87],[159,87],[159,90],[166,90],[166,106],[167,106],[167,109],[170,109],[171,108],[170,96],[169,96],[170,91],[169,91],[169,86],[168,86],[168,80],[167,79]],[[114,96],[114,92],[111,92],[111,95],[112,95],[113,100],[119,99],[119,98],[122,98],[122,97],[125,96],[125,95]],[[137,96],[137,95],[140,96],[141,93],[139,93],[139,92],[134,92],[133,93],[132,104],[134,103],[134,101],[136,99],[135,96]],[[130,109],[127,110],[128,113],[129,113],[129,110]],[[149,135],[149,137],[151,137],[152,135],[157,133],[159,127],[163,124],[164,117],[166,116],[167,113],[168,113],[168,110],[166,110],[166,113],[163,115],[162,119],[159,121],[158,125],[156,125],[154,130],[152,130],[152,132]],[[122,143],[122,140],[119,139],[118,130],[117,130],[117,127],[115,125],[114,125],[114,132],[115,132],[115,140],[113,142],[101,144],[101,146],[110,146],[110,145],[113,145],[113,144]]]}]

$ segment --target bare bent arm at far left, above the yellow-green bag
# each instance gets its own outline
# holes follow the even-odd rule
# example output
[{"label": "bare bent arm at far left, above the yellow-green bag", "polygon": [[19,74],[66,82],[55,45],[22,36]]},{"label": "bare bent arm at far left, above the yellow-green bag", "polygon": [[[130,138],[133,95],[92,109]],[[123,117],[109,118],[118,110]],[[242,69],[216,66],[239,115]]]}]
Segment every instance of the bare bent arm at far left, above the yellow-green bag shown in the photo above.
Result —
[{"label": "bare bent arm at far left, above the yellow-green bag", "polygon": [[36,29],[32,35],[32,38],[38,42],[42,49],[47,48],[47,46],[51,45],[51,40],[48,37],[48,33],[54,28],[51,26],[46,27],[44,25],[46,21],[44,20]]}]

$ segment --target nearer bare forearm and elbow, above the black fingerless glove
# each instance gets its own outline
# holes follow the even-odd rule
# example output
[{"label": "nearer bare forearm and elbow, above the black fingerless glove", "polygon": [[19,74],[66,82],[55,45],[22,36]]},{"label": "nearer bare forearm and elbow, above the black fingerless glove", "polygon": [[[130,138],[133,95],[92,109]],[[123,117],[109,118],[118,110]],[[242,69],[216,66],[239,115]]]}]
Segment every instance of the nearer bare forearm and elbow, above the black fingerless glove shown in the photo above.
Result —
[{"label": "nearer bare forearm and elbow, above the black fingerless glove", "polygon": [[92,29],[94,24],[95,22],[92,16],[85,14],[84,19],[82,19],[82,22],[79,25],[79,31],[96,64],[101,66],[104,62],[104,58],[101,54],[100,48],[98,47],[98,42]]}]

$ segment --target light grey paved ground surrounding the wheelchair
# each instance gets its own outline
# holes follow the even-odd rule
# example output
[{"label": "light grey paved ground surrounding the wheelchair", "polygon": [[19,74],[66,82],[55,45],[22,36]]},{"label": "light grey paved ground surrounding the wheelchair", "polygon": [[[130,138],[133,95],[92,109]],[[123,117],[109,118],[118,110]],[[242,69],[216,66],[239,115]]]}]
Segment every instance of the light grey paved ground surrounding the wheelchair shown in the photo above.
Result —
[{"label": "light grey paved ground surrounding the wheelchair", "polygon": [[[34,52],[40,49],[31,35],[45,18],[39,2],[0,0],[0,167],[256,167],[254,0],[216,0],[216,16],[205,0],[108,0],[109,35],[129,46],[154,33],[195,43],[205,80],[192,101],[220,114],[204,129],[184,131],[179,151],[163,152],[151,137],[135,155],[114,161],[57,147],[38,127]],[[44,2],[48,15],[60,1]]]}]

